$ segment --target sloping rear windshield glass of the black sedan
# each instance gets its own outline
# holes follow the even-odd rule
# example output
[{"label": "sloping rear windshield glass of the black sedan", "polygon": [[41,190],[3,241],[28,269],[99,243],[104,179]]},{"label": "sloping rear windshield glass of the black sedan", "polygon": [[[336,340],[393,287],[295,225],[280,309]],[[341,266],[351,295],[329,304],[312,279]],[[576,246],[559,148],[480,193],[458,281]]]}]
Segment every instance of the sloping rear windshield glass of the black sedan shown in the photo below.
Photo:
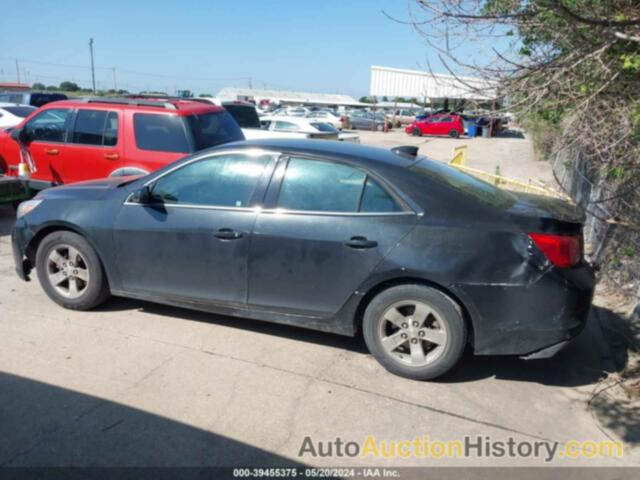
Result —
[{"label": "sloping rear windshield glass of the black sedan", "polygon": [[507,208],[516,201],[515,195],[434,160],[422,159],[409,169],[492,207]]}]

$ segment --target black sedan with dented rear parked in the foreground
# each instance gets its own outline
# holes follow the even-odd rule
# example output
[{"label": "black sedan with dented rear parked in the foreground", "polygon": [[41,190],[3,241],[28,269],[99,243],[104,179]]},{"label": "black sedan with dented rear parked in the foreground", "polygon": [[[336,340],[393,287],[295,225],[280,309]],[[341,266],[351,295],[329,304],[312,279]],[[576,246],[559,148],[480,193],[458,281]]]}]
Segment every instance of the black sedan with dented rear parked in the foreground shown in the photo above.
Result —
[{"label": "black sedan with dented rear parked in the foreground", "polygon": [[141,178],[24,202],[17,272],[85,310],[110,295],[355,335],[389,371],[476,354],[550,356],[594,288],[581,214],[508,193],[411,147],[217,147]]}]

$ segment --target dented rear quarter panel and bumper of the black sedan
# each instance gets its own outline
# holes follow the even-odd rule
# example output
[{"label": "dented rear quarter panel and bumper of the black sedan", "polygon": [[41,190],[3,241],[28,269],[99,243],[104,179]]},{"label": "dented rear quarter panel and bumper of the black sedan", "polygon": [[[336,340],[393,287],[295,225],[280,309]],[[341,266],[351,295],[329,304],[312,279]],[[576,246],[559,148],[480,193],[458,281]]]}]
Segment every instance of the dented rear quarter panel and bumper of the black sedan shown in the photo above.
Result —
[{"label": "dented rear quarter panel and bumper of the black sedan", "polygon": [[[479,354],[524,354],[561,341],[578,326],[585,304],[572,293],[575,282],[549,266],[525,232],[502,222],[471,228],[425,219],[376,273],[421,278],[455,297]],[[589,282],[583,287],[587,292]]]}]

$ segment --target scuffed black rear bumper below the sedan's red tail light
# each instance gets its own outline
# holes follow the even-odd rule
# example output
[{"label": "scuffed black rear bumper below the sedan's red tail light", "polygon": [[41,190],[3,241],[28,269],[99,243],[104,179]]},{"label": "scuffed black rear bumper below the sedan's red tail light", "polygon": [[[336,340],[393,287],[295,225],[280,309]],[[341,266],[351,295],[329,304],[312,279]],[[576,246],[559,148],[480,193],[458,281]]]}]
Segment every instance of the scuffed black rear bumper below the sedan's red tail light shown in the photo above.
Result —
[{"label": "scuffed black rear bumper below the sedan's red tail light", "polygon": [[530,285],[464,285],[479,355],[546,358],[585,327],[595,276],[590,266],[551,269]]}]

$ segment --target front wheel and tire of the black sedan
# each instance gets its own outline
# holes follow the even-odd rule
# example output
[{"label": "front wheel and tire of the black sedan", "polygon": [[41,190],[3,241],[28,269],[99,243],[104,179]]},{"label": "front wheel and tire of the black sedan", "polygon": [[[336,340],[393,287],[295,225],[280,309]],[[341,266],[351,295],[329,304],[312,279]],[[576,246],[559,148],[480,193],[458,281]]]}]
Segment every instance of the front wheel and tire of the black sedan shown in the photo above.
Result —
[{"label": "front wheel and tire of the black sedan", "polygon": [[111,295],[98,255],[77,233],[47,235],[36,252],[36,269],[45,293],[65,308],[90,310]]}]

